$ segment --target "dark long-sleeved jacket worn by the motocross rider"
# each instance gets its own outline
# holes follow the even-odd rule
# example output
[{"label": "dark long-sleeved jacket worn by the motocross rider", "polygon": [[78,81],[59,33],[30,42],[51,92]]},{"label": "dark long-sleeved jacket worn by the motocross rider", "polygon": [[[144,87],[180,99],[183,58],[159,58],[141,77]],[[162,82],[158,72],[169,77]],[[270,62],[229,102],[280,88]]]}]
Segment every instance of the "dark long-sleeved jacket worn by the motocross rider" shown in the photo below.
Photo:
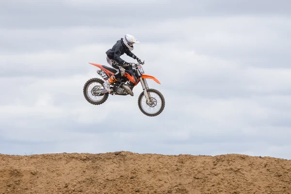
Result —
[{"label": "dark long-sleeved jacket worn by the motocross rider", "polygon": [[115,60],[118,64],[125,64],[126,61],[120,58],[121,55],[126,53],[129,57],[136,59],[136,56],[129,50],[129,48],[124,44],[123,38],[117,40],[112,49],[106,51],[106,54],[109,59]]}]

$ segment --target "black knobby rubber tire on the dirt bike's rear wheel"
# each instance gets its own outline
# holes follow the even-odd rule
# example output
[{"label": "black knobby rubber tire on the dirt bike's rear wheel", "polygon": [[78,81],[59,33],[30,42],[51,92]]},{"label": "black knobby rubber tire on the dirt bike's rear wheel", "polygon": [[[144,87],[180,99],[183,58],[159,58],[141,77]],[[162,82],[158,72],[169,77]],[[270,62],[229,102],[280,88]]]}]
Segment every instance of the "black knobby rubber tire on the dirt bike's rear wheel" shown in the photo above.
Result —
[{"label": "black knobby rubber tire on the dirt bike's rear wheel", "polygon": [[[104,102],[107,100],[107,98],[108,98],[108,96],[109,96],[109,93],[107,92],[107,93],[102,93],[102,94],[100,94],[100,96],[103,97],[103,98],[101,98],[100,100],[93,100],[93,99],[91,99],[91,98],[88,96],[88,87],[89,87],[89,85],[90,85],[91,83],[94,83],[94,82],[96,82],[96,83],[100,83],[100,84],[101,84],[100,87],[103,87],[103,89],[104,89],[104,86],[103,86],[104,81],[103,81],[103,80],[101,80],[101,79],[99,79],[99,78],[92,78],[92,79],[88,80],[88,81],[85,83],[85,85],[84,85],[84,87],[83,87],[83,94],[84,94],[85,99],[86,99],[88,102],[90,102],[91,104],[94,104],[94,105],[100,105],[100,104],[104,103]],[[98,86],[98,87],[99,87],[99,86]],[[93,89],[93,88],[92,88],[92,89]],[[91,89],[91,90],[92,90],[92,89]],[[90,91],[90,92],[91,92],[91,91]]]}]

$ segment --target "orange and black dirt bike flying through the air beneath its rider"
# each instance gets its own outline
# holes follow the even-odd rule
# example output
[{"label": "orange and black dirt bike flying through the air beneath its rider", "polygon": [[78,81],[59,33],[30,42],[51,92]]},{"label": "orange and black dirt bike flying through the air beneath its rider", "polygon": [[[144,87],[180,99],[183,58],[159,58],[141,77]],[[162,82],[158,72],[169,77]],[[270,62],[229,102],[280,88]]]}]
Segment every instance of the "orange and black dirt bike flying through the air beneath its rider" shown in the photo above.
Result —
[{"label": "orange and black dirt bike flying through the air beneath its rider", "polygon": [[108,92],[104,88],[103,83],[116,73],[116,69],[106,65],[89,64],[100,68],[100,70],[97,70],[97,74],[100,75],[103,80],[92,78],[85,83],[83,94],[88,102],[94,105],[100,105],[107,100],[109,94],[133,96],[132,89],[141,82],[143,92],[138,98],[138,107],[141,112],[147,116],[157,116],[162,113],[165,107],[165,99],[158,90],[148,88],[146,79],[152,79],[159,84],[161,83],[155,77],[145,74],[142,67],[145,61],[138,64],[130,63],[130,68],[125,70],[124,76],[111,84],[111,92]]}]

